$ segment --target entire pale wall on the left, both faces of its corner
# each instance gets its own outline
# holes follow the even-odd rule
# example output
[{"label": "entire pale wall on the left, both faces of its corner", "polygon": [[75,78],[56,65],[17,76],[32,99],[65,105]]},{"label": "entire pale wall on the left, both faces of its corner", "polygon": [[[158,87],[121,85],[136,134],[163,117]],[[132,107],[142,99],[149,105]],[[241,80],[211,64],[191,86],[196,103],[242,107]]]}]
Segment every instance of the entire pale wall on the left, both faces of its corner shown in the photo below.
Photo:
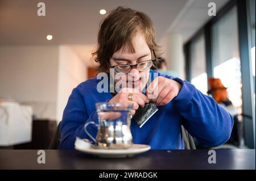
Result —
[{"label": "entire pale wall on the left, both faces of its corner", "polygon": [[0,99],[30,105],[40,119],[60,121],[86,66],[67,45],[0,46]]}]

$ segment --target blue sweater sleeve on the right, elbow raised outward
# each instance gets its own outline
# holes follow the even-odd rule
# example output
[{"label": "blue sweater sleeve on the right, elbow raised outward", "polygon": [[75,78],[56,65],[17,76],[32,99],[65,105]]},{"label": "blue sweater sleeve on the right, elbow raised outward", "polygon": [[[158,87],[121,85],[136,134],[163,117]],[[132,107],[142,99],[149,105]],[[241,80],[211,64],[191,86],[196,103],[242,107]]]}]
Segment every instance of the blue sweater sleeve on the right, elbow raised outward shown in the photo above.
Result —
[{"label": "blue sweater sleeve on the right, elbow raised outward", "polygon": [[167,75],[160,76],[173,79],[182,85],[172,102],[184,117],[184,127],[192,136],[209,146],[222,145],[229,140],[233,117],[224,108],[191,83]]}]

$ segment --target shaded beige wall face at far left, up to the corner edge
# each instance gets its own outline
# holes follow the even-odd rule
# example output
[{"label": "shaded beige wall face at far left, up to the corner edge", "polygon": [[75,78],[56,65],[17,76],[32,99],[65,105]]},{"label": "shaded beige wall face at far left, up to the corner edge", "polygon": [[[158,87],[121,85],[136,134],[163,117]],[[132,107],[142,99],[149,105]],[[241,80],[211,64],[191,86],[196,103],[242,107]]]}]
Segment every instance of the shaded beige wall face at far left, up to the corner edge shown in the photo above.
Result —
[{"label": "shaded beige wall face at far left, up to the corner edge", "polygon": [[57,46],[0,46],[0,99],[16,99],[55,119]]}]

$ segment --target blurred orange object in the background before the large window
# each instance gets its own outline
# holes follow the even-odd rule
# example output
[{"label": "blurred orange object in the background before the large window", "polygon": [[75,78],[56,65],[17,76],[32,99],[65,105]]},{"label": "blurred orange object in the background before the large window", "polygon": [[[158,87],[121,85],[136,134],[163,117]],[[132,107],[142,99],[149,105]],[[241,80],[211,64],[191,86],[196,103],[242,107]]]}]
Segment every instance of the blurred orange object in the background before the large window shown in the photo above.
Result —
[{"label": "blurred orange object in the background before the large window", "polygon": [[226,87],[222,84],[219,78],[208,79],[209,81],[209,91],[208,94],[212,94],[213,99],[216,100],[217,103],[224,102],[228,100],[228,91],[226,91]]}]

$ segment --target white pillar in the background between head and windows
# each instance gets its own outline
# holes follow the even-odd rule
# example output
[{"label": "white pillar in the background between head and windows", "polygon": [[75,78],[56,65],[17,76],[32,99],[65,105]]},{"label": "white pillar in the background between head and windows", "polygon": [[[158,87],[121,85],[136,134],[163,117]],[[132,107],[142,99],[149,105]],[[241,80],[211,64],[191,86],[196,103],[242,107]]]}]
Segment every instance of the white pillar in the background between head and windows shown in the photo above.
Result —
[{"label": "white pillar in the background between head and windows", "polygon": [[179,78],[185,79],[185,64],[183,53],[183,39],[179,33],[167,35],[167,66],[175,71]]}]

